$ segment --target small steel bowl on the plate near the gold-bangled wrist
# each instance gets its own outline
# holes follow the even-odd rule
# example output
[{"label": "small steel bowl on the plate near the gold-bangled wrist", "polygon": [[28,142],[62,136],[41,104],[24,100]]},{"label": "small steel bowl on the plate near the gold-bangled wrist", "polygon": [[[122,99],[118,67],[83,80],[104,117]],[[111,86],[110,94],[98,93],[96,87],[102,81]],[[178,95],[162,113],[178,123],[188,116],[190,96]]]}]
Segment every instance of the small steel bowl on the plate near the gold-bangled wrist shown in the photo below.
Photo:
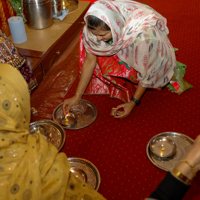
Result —
[{"label": "small steel bowl on the plate near the gold-bangled wrist", "polygon": [[156,137],[150,141],[150,150],[161,158],[167,158],[176,153],[176,144],[168,137]]}]

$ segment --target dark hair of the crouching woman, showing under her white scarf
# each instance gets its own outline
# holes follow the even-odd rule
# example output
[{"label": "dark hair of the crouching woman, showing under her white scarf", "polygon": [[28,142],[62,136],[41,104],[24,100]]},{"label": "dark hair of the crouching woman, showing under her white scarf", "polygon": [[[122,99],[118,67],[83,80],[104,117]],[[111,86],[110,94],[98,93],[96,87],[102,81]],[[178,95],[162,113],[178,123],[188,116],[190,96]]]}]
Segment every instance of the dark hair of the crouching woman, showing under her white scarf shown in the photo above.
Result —
[{"label": "dark hair of the crouching woman, showing under her white scarf", "polygon": [[87,16],[86,20],[87,27],[91,30],[96,30],[96,28],[99,27],[104,31],[110,31],[110,27],[106,23],[93,15]]}]

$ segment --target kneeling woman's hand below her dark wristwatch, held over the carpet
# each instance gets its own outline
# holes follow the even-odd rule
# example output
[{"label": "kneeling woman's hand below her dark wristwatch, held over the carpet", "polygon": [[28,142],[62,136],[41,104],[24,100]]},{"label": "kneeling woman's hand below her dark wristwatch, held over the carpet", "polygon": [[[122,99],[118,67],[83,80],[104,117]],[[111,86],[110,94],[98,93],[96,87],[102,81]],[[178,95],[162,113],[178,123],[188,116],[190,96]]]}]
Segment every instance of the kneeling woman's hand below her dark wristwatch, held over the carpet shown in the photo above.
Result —
[{"label": "kneeling woman's hand below her dark wristwatch, held over the carpet", "polygon": [[117,111],[117,115],[115,115],[114,118],[123,119],[127,117],[135,106],[136,104],[133,101],[117,106],[117,110],[124,109],[124,111]]}]

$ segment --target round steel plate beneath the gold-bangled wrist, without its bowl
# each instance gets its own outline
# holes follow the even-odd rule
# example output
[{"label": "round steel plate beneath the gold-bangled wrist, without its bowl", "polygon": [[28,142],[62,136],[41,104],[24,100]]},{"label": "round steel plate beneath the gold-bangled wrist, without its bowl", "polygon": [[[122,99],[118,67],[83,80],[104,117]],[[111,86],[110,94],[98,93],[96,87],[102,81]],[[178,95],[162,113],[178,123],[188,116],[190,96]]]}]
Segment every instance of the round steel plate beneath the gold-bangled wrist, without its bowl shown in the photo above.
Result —
[{"label": "round steel plate beneath the gold-bangled wrist, without its bowl", "polygon": [[[168,137],[176,144],[176,153],[168,158],[161,158],[153,154],[150,150],[150,141],[155,137]],[[187,135],[176,132],[163,132],[155,135],[147,144],[146,153],[149,160],[158,168],[165,171],[172,171],[173,168],[180,162],[184,155],[190,150],[194,140]]]}]

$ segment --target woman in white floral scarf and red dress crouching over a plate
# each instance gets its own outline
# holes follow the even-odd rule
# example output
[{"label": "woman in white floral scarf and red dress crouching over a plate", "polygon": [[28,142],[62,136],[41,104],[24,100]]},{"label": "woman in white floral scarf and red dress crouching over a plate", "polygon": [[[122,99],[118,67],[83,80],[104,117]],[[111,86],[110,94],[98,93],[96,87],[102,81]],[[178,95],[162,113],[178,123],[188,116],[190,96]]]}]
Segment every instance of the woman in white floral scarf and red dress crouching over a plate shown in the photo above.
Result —
[{"label": "woman in white floral scarf and red dress crouching over a plate", "polygon": [[161,89],[176,70],[166,19],[135,1],[97,1],[84,19],[81,77],[63,110],[69,112],[84,92],[110,94],[126,102],[117,107],[124,111],[115,118],[127,117],[147,88]]}]

